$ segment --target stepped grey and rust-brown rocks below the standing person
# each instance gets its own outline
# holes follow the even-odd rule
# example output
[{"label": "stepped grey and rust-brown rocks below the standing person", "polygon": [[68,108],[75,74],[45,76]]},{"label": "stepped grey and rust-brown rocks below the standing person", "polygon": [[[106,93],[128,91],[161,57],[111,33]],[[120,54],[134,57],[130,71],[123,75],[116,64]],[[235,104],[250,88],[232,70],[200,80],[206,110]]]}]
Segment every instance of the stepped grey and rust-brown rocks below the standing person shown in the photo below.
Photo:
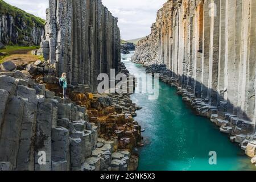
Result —
[{"label": "stepped grey and rust-brown rocks below the standing person", "polygon": [[[47,61],[8,65],[0,69],[1,170],[137,169],[141,127],[132,116],[140,108],[129,95],[69,85],[64,100]],[[45,165],[40,154],[46,154]]]}]

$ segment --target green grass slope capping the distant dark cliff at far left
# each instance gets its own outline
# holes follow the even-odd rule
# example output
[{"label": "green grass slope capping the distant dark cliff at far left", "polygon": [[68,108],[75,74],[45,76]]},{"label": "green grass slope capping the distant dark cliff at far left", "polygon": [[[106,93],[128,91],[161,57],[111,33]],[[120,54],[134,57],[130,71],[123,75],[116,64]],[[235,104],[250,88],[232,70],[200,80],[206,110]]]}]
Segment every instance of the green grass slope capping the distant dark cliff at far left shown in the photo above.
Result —
[{"label": "green grass slope capping the distant dark cliff at far left", "polygon": [[26,11],[20,10],[15,6],[11,6],[3,0],[0,0],[0,14],[9,14],[14,18],[19,17],[27,20],[28,26],[33,26],[33,23],[36,23],[37,26],[44,26],[45,24],[45,20],[42,18],[26,13]]}]

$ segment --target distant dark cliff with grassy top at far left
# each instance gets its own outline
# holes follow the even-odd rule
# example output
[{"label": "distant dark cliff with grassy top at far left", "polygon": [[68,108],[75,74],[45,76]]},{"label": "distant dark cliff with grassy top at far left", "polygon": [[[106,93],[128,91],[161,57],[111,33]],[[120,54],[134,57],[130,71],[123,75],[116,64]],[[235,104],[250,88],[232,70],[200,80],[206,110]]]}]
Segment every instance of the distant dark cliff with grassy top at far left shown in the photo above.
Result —
[{"label": "distant dark cliff with grassy top at far left", "polygon": [[0,0],[0,42],[22,46],[39,46],[44,21]]}]

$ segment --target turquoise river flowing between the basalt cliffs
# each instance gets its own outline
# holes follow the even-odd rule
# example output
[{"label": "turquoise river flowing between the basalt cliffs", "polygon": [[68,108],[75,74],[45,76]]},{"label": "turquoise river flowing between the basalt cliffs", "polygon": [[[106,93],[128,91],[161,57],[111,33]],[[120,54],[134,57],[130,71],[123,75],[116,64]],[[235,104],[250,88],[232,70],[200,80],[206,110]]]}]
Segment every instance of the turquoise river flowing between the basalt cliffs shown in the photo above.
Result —
[{"label": "turquoise river flowing between the basalt cliffs", "polygon": [[[131,74],[145,73],[131,63],[133,55],[122,55]],[[138,89],[138,88],[137,88]],[[147,94],[133,94],[133,102],[143,109],[135,120],[143,129],[144,147],[139,150],[139,171],[223,171],[250,170],[255,167],[241,148],[220,133],[207,118],[193,113],[176,88],[159,83],[159,97],[148,100]],[[216,151],[217,164],[209,164],[209,152]]]}]

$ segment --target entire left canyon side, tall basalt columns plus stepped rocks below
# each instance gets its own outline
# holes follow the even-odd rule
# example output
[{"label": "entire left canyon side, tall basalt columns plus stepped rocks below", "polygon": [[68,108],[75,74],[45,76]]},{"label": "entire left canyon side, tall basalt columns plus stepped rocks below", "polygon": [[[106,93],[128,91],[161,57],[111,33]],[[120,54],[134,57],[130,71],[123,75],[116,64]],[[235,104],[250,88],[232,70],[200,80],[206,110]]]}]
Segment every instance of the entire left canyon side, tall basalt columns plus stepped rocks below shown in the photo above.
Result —
[{"label": "entire left canyon side, tall basalt columns plus stepped rocks below", "polygon": [[33,51],[44,60],[1,64],[0,171],[134,171],[142,138],[133,115],[140,108],[128,94],[95,92],[98,74],[129,75],[117,18],[100,0],[49,0],[46,12]]}]

